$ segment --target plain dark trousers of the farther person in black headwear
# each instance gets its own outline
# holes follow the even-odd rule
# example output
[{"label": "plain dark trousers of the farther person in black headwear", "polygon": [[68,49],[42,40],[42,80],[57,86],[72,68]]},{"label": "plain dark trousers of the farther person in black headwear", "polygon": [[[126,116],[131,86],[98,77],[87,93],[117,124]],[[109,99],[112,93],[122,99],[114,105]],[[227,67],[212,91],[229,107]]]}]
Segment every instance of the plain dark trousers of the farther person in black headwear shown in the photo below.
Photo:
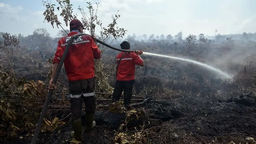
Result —
[{"label": "plain dark trousers of the farther person in black headwear", "polygon": [[132,99],[132,88],[134,80],[131,81],[116,81],[115,89],[113,92],[113,100],[119,100],[122,92],[124,91],[124,105],[128,105]]}]

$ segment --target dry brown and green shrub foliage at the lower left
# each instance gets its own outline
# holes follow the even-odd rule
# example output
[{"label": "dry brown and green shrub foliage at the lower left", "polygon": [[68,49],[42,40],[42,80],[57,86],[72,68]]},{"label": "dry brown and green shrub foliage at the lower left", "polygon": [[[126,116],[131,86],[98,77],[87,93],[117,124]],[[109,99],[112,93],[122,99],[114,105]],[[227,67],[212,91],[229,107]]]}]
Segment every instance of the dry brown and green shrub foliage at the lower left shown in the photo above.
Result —
[{"label": "dry brown and green shrub foliage at the lower left", "polygon": [[[35,128],[42,111],[40,107],[43,106],[40,100],[45,99],[46,92],[42,81],[26,81],[0,70],[0,127],[6,130],[5,133],[0,131],[0,134],[16,136],[17,130]],[[18,102],[8,100],[10,96],[17,98]]]}]

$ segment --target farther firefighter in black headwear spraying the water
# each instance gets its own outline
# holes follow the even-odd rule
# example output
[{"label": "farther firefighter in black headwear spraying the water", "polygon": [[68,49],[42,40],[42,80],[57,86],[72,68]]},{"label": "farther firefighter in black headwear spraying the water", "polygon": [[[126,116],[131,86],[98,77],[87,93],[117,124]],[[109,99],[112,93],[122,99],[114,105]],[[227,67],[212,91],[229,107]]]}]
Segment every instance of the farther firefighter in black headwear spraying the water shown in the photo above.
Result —
[{"label": "farther firefighter in black headwear spraying the water", "polygon": [[[130,44],[124,41],[120,44],[121,49],[130,50]],[[140,58],[142,52],[121,52],[116,56],[116,84],[112,96],[112,102],[119,100],[124,91],[124,106],[127,107],[132,99],[132,88],[135,82],[135,65],[144,66]]]}]

